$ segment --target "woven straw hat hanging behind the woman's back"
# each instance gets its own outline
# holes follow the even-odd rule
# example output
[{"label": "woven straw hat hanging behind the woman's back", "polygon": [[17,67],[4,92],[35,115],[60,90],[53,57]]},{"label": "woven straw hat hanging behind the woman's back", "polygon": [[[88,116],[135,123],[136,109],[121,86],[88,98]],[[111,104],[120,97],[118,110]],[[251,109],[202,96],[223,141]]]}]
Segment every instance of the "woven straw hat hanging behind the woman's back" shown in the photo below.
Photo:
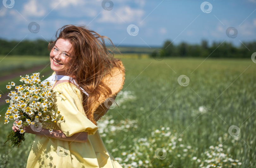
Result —
[{"label": "woven straw hat hanging behind the woman's back", "polygon": [[[122,61],[119,61],[119,64],[121,68],[125,70]],[[114,67],[112,68],[111,73],[103,78],[103,82],[111,89],[112,94],[109,98],[104,97],[102,94],[100,95],[99,102],[96,103],[91,113],[93,115],[93,122],[95,121],[94,123],[107,113],[113,103],[116,104],[114,99],[124,86],[125,73]]]}]

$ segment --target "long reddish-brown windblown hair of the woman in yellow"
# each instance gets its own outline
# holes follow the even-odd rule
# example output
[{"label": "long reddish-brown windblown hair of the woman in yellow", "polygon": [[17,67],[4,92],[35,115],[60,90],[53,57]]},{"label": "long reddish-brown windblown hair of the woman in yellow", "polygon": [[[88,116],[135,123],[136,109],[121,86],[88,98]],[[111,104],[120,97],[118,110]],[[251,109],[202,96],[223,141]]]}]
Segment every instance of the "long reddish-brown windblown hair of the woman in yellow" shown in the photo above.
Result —
[{"label": "long reddish-brown windblown hair of the woman in yellow", "polygon": [[105,97],[112,94],[111,89],[102,82],[103,77],[113,67],[125,72],[118,64],[120,59],[114,58],[113,52],[106,47],[105,40],[112,48],[115,48],[114,44],[107,36],[101,36],[86,26],[64,25],[56,32],[56,40],[49,43],[50,51],[59,38],[69,40],[72,44],[71,63],[66,73],[73,76],[77,84],[89,94],[87,96],[81,91],[83,108],[87,118],[97,125],[93,120],[92,109],[101,94]]}]

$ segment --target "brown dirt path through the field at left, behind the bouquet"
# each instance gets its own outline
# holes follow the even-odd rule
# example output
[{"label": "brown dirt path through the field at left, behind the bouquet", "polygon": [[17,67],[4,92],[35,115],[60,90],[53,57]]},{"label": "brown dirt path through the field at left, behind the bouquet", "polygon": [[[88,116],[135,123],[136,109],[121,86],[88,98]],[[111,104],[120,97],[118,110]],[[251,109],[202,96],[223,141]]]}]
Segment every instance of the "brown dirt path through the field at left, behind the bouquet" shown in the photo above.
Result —
[{"label": "brown dirt path through the field at left, behind the bouquet", "polygon": [[[0,77],[0,81],[6,81],[6,80],[11,80],[13,78],[20,77],[20,76],[31,75],[32,73],[42,71],[47,66],[48,66],[47,64],[44,64],[44,65],[33,67],[31,69],[28,69],[28,70],[24,70],[24,71],[21,71],[21,72],[16,72],[16,73],[13,73],[13,74],[10,74],[10,75],[2,76],[2,77]],[[43,76],[43,75],[44,76],[50,76],[51,74],[52,74],[52,70],[49,70],[49,71],[46,71],[46,72],[40,74],[40,76]],[[2,92],[0,94],[2,94]],[[2,98],[4,100],[8,99],[7,95],[8,95],[8,92],[5,92],[4,94],[2,94]],[[3,99],[0,98],[0,106],[5,104],[5,101]]]}]

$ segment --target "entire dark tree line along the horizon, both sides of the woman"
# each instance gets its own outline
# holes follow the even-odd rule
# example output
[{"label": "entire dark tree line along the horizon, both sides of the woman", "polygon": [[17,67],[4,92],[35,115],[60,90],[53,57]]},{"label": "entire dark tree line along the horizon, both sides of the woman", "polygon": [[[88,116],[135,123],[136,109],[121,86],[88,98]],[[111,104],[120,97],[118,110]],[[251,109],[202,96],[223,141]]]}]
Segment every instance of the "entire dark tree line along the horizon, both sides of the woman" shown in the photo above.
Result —
[{"label": "entire dark tree line along the horizon, both sides of the woman", "polygon": [[[246,47],[245,47],[246,46]],[[124,47],[122,47],[124,48]],[[142,48],[141,52],[152,53],[152,49]],[[121,48],[120,48],[121,49]],[[130,48],[132,49],[132,48]],[[134,47],[133,47],[134,49]],[[121,49],[122,52],[122,49]],[[136,51],[123,51],[124,53],[139,53]],[[141,53],[140,52],[140,53]],[[166,40],[162,46],[155,50],[152,57],[202,57],[206,58],[250,58],[256,52],[256,41],[243,42],[236,47],[231,42],[213,42],[209,45],[207,40],[202,40],[201,44],[189,44],[181,42],[174,45],[170,40]],[[0,39],[0,55],[40,55],[48,56],[48,42],[43,39],[8,41]]]}]

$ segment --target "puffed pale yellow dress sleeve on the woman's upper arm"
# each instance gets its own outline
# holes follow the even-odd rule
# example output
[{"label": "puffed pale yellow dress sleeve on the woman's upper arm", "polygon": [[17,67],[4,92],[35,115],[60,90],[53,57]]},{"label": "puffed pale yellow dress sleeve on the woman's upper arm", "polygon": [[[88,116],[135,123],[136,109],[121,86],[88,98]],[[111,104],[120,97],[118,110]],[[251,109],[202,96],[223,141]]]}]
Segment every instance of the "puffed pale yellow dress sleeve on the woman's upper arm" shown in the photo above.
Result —
[{"label": "puffed pale yellow dress sleeve on the woman's upper arm", "polygon": [[63,82],[54,87],[54,91],[61,93],[60,96],[56,96],[55,109],[60,111],[59,115],[64,116],[64,120],[58,120],[57,125],[67,137],[78,132],[94,135],[98,127],[86,117],[81,93],[75,85],[71,85]]}]

